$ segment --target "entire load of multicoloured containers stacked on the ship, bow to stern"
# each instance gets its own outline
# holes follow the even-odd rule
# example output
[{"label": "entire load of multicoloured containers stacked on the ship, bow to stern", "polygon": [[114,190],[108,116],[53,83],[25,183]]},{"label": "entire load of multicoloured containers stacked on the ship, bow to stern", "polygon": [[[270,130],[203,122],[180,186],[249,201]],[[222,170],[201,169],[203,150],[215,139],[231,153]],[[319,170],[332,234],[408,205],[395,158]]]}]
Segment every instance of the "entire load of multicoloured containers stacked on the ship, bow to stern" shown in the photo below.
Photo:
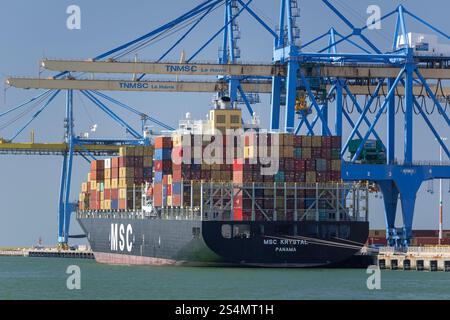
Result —
[{"label": "entire load of multicoloured containers stacked on the ship, bow to stern", "polygon": [[[190,139],[190,144],[185,139]],[[157,208],[199,207],[199,182],[246,187],[254,183],[256,205],[251,200],[253,194],[235,190],[235,220],[263,220],[267,215],[271,219],[292,220],[298,210],[312,206],[317,197],[314,187],[295,192],[295,184],[311,186],[341,180],[340,137],[252,133],[245,136],[241,150],[236,141],[233,149],[227,148],[231,142],[225,137],[222,152],[217,155],[223,163],[211,164],[204,156],[212,150],[214,139],[214,136],[191,134],[160,136],[155,138],[154,148],[124,147],[119,158],[92,162],[88,181],[80,194],[80,209],[140,210],[146,183],[153,183],[148,196],[153,197]],[[267,152],[261,151],[264,145]],[[205,152],[207,148],[210,149]],[[228,154],[229,149],[233,155]],[[264,162],[267,157],[269,163]],[[264,174],[262,169],[268,168],[275,159],[278,159],[278,171]],[[330,209],[326,202],[319,204],[324,215]]]}]

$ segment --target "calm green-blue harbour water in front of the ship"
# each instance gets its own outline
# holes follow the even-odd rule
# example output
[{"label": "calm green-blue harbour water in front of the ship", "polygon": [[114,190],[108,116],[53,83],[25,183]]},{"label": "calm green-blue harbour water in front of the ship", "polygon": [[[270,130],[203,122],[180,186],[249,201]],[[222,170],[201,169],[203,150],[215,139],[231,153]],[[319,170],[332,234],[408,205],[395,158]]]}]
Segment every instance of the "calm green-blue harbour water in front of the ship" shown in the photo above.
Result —
[{"label": "calm green-blue harbour water in front of the ship", "polygon": [[[81,290],[69,290],[71,265]],[[369,290],[364,269],[127,267],[92,260],[0,257],[0,300],[450,299],[450,273],[381,272]]]}]

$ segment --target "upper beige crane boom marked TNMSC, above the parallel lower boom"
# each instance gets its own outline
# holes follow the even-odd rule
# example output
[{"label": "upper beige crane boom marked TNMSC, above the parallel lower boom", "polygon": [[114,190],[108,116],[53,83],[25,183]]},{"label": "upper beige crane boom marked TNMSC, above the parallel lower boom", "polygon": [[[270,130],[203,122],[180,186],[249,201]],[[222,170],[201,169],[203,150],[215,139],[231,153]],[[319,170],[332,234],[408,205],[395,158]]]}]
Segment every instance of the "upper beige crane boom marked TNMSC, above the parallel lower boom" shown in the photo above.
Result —
[{"label": "upper beige crane boom marked TNMSC, above the parallel lower boom", "polygon": [[[286,76],[286,67],[274,64],[210,64],[210,63],[162,63],[162,62],[116,62],[116,61],[77,61],[43,60],[42,67],[51,71],[70,71],[86,73],[189,75],[189,76]],[[304,71],[313,76],[361,79],[395,78],[399,67],[387,66],[337,66],[317,64],[304,66]],[[309,69],[309,70],[308,70]],[[450,69],[420,68],[425,79],[450,79]]]}]

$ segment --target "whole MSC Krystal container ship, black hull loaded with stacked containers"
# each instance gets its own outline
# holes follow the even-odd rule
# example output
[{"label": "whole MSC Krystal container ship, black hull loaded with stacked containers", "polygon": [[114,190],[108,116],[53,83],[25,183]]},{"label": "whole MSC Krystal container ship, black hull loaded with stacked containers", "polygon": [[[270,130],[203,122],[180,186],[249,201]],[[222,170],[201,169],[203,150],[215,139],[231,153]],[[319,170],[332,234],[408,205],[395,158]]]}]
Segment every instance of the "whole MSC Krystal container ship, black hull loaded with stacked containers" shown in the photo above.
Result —
[{"label": "whole MSC Krystal container ship, black hull loaded with stacked containers", "polygon": [[91,163],[77,221],[100,263],[339,266],[366,242],[368,186],[341,137],[267,132],[229,99],[206,120]]}]

